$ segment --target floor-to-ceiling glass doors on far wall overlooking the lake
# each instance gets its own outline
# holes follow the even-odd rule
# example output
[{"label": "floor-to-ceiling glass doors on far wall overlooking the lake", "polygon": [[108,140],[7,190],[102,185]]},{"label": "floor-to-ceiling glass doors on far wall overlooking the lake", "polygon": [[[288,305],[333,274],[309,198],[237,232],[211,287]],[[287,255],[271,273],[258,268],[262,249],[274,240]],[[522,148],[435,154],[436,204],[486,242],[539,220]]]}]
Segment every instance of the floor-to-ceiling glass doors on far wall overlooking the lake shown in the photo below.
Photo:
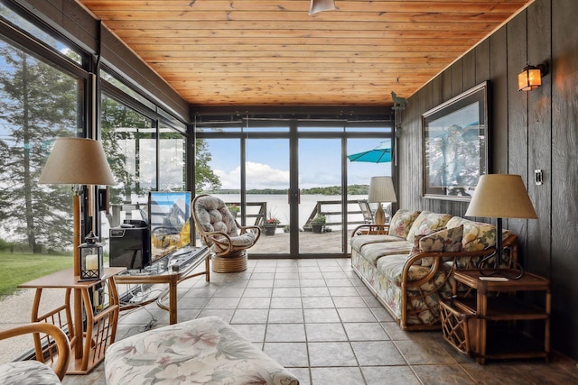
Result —
[{"label": "floor-to-ceiling glass doors on far wall overlooking the lake", "polygon": [[197,127],[196,193],[221,197],[238,210],[239,224],[261,228],[249,257],[347,255],[351,231],[364,223],[359,202],[367,201],[370,177],[391,175],[391,158],[372,164],[347,156],[378,146],[391,129],[348,132],[343,124]]}]

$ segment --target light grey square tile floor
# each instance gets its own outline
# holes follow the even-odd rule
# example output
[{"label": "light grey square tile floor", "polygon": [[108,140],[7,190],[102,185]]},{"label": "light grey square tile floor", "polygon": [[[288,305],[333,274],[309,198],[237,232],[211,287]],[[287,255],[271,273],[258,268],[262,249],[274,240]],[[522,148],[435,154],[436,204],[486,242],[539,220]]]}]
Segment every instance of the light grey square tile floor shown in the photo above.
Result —
[{"label": "light grey square tile floor", "polygon": [[[249,260],[246,271],[179,285],[179,321],[220,316],[302,384],[566,384],[576,362],[479,365],[441,332],[403,332],[350,268],[349,259]],[[154,321],[155,320],[155,321]],[[168,325],[155,304],[121,314],[117,338]],[[103,365],[65,384],[104,384]]]}]

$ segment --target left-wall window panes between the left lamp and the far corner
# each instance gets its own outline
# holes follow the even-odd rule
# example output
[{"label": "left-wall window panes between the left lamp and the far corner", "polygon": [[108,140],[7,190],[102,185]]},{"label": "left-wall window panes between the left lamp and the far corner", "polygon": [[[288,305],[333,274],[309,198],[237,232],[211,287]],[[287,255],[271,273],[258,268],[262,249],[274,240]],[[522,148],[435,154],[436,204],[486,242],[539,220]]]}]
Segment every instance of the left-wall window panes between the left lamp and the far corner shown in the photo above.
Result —
[{"label": "left-wall window panes between the left lamp and the far corner", "polygon": [[101,97],[101,140],[117,181],[110,212],[101,216],[101,237],[125,220],[146,220],[150,191],[187,189],[187,137],[178,127],[130,97]]}]

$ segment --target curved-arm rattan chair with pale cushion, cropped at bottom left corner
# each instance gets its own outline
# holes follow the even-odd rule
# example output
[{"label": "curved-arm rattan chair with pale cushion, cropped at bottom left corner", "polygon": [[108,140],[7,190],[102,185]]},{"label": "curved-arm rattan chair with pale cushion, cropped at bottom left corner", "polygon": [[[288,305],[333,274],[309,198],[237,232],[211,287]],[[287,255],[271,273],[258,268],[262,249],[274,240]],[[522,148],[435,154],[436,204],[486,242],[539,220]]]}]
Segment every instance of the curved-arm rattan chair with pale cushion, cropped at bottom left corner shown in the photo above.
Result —
[{"label": "curved-arm rattan chair with pale cushion, cropped at bottom left corner", "polygon": [[[58,326],[38,322],[4,330],[0,332],[0,340],[28,334],[34,334],[36,360],[0,364],[0,383],[60,384],[71,357],[68,337]],[[46,344],[42,345],[43,342]],[[50,357],[51,366],[44,364],[45,355]]]}]

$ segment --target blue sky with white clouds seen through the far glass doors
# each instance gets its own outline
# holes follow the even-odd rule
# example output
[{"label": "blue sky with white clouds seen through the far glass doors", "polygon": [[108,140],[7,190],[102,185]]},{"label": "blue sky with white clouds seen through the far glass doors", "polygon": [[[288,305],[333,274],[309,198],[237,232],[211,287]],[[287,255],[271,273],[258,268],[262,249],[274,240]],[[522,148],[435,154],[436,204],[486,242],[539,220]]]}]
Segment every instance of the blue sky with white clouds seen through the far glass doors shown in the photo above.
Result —
[{"label": "blue sky with white clouds seen through the far glass doors", "polygon": [[[235,139],[206,140],[212,155],[211,169],[219,176],[221,188],[239,188],[239,142]],[[350,139],[347,155],[372,150],[383,139]],[[374,176],[391,175],[391,163],[347,160],[348,185],[368,185]],[[340,139],[299,141],[300,188],[340,186]],[[289,187],[289,140],[247,140],[247,189]]]}]

